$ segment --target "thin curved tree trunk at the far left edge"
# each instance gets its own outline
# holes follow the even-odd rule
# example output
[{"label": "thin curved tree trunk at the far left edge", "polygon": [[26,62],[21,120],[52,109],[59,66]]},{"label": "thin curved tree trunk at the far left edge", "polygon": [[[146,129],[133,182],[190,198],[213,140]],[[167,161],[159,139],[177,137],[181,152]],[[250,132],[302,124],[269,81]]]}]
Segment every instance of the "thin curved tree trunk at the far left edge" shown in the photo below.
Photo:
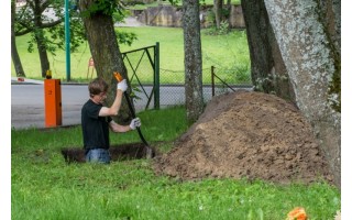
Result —
[{"label": "thin curved tree trunk at the far left edge", "polygon": [[15,2],[11,1],[11,57],[18,77],[25,77],[14,36]]}]

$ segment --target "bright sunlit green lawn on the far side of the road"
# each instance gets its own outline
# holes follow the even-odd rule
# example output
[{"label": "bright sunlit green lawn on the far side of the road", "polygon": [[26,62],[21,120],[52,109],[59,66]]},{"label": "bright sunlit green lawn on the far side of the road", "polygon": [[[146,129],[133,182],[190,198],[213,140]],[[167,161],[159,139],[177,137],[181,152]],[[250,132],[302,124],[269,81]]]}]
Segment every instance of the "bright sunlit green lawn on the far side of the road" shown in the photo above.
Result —
[{"label": "bright sunlit green lawn on the far side of the road", "polygon": [[[182,29],[175,28],[119,28],[121,31],[134,32],[138,40],[131,45],[120,45],[121,52],[155,45],[160,42],[162,69],[184,70],[184,36]],[[250,73],[250,57],[244,31],[233,31],[228,35],[207,35],[207,30],[201,31],[202,67],[224,69],[241,69],[246,75]],[[29,36],[16,37],[16,46],[24,72],[29,78],[41,78],[41,66],[37,52],[26,51]],[[70,78],[86,79],[88,61],[90,58],[88,43],[80,46],[79,51],[70,55]],[[66,78],[65,52],[57,52],[56,56],[48,56],[54,78]],[[11,76],[15,76],[11,64]]]}]

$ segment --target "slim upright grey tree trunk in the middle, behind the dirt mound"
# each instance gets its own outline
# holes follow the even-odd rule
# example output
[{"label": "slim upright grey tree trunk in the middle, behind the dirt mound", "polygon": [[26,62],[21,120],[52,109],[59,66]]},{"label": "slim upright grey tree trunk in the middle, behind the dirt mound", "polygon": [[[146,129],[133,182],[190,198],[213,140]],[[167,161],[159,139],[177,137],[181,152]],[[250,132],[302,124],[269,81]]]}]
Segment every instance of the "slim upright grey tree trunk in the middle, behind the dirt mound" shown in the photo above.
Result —
[{"label": "slim upright grey tree trunk in the middle, behind the dirt mound", "polygon": [[199,1],[183,1],[185,92],[188,123],[204,111]]}]

